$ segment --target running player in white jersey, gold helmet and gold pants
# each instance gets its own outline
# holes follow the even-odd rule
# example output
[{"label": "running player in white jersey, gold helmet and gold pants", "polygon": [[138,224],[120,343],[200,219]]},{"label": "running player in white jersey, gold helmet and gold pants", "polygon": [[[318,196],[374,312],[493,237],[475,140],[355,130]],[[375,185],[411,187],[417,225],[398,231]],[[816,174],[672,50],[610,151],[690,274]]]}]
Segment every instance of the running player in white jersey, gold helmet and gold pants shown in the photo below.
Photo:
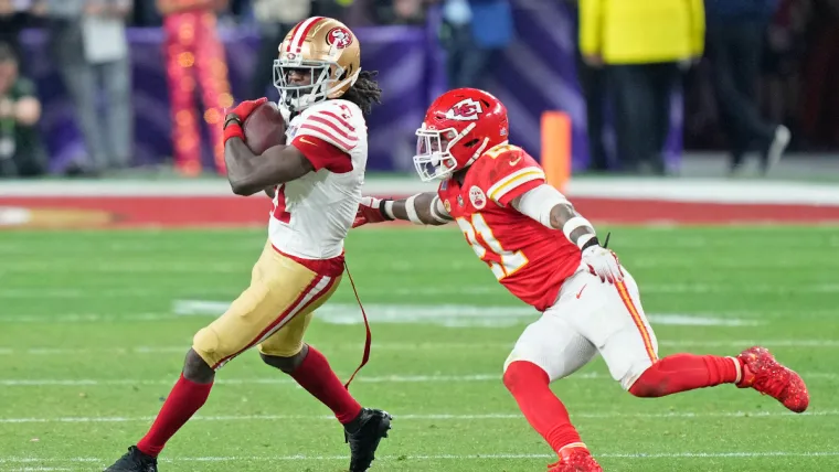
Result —
[{"label": "running player in white jersey, gold helmet and gold pants", "polygon": [[[258,346],[263,361],[290,375],[344,427],[350,471],[367,471],[391,417],[362,408],[321,353],[302,342],[315,310],[343,273],[343,239],[361,201],[367,165],[363,115],[379,103],[374,75],[360,68],[355,35],[339,21],[304,20],[279,45],[275,84],[290,119],[286,146],[254,155],[242,124],[267,99],[225,118],[225,160],[233,192],[274,196],[268,240],[251,286],[193,339],[183,371],[148,433],[107,471],[155,472],[166,442],[206,400],[215,371]],[[235,468],[234,468],[235,469]]]}]

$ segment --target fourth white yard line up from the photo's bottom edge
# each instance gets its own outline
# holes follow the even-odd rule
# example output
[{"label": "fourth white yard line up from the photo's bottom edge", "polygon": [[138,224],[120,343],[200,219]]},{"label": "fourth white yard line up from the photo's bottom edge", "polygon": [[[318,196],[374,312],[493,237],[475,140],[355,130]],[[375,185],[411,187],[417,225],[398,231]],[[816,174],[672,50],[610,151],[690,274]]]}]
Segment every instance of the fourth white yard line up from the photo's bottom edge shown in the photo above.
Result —
[{"label": "fourth white yard line up from the photo's bottom edge", "polygon": [[[433,342],[433,343],[375,343],[373,351],[434,351],[445,353],[446,351],[477,351],[481,350],[510,350],[516,343],[514,339],[509,342]],[[184,339],[183,344],[172,346],[134,346],[134,347],[0,347],[0,355],[66,355],[78,356],[89,355],[182,355],[189,350],[190,342]],[[741,340],[741,341],[712,341],[712,340],[659,340],[659,346],[665,347],[733,347],[745,348],[753,345],[762,345],[768,348],[790,347],[790,348],[835,348],[839,347],[839,341],[836,340]],[[317,343],[321,350],[361,350],[363,344],[344,343],[330,344]]]}]

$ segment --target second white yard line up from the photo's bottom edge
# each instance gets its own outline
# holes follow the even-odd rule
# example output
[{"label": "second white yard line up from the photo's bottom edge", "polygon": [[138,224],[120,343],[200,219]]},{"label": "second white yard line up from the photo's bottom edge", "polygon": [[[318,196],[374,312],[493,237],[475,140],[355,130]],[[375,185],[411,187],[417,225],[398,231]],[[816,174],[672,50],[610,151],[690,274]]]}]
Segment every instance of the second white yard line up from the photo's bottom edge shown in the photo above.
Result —
[{"label": "second white yard line up from the photo's bottom edge", "polygon": [[[839,416],[839,410],[817,410],[804,414],[790,411],[673,411],[665,414],[625,414],[625,412],[572,412],[574,418],[609,419],[703,419],[703,418],[785,418],[785,417],[827,417]],[[524,420],[520,414],[425,414],[399,415],[393,414],[399,421],[480,421],[480,420]],[[83,423],[83,422],[148,422],[155,417],[55,417],[55,418],[0,418],[0,423]],[[315,415],[232,415],[232,416],[195,416],[191,421],[280,421],[280,420],[325,420],[334,421],[334,416]]]}]

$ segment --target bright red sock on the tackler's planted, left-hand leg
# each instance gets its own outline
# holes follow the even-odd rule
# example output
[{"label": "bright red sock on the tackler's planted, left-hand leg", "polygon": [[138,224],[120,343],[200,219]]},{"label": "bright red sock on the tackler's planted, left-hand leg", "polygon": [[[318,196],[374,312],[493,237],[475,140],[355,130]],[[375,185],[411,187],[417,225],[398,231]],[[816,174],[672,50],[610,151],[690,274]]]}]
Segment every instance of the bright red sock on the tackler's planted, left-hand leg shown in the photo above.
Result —
[{"label": "bright red sock on the tackler's planted, left-hand leg", "polygon": [[503,382],[530,426],[555,452],[565,446],[582,442],[565,406],[551,391],[550,378],[542,367],[527,361],[516,361],[507,367]]}]

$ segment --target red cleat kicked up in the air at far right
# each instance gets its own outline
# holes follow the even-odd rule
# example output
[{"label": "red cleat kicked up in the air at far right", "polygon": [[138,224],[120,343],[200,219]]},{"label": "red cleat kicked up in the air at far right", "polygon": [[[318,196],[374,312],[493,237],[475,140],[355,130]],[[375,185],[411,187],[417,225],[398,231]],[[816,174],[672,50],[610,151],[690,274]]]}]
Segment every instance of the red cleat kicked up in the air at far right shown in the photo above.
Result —
[{"label": "red cleat kicked up in the air at far right", "polygon": [[801,412],[810,404],[810,394],[801,376],[775,361],[766,347],[750,347],[737,356],[743,365],[743,376],[737,387],[752,387],[768,395],[795,412]]}]

